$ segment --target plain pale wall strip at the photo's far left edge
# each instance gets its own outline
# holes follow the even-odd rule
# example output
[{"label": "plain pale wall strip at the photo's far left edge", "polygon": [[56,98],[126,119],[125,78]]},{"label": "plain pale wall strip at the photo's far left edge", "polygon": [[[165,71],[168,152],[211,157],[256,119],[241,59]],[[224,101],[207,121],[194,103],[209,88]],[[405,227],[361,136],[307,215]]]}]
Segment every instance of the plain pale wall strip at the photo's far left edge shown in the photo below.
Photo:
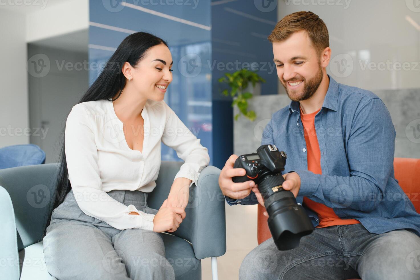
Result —
[{"label": "plain pale wall strip at the photo's far left edge", "polygon": [[0,10],[0,147],[28,144],[25,16]]}]

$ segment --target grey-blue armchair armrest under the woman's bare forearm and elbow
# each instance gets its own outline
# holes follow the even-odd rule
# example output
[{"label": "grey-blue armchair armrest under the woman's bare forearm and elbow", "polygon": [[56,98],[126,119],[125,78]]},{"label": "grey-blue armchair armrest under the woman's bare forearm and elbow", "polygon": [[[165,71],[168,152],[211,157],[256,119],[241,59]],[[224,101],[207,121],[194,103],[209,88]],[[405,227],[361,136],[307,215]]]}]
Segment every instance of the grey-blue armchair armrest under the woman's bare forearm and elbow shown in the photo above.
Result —
[{"label": "grey-blue armchair armrest under the woman's bare forearm and elbow", "polygon": [[[156,188],[148,197],[148,205],[159,209],[168,194],[182,162],[165,162],[160,167]],[[220,190],[220,169],[204,168],[198,186],[189,189],[189,202],[185,208],[186,218],[173,235],[192,243],[197,259],[222,256],[226,252],[225,197]]]}]

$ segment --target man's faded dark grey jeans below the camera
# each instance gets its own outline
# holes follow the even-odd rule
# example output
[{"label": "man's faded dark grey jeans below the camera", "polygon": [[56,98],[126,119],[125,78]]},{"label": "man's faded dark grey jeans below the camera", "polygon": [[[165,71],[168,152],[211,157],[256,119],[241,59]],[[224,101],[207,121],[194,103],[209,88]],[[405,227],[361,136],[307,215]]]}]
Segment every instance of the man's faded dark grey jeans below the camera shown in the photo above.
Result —
[{"label": "man's faded dark grey jeans below the camera", "polygon": [[405,229],[382,234],[362,224],[315,228],[298,248],[279,251],[273,238],[245,257],[239,279],[420,279],[420,237]]}]

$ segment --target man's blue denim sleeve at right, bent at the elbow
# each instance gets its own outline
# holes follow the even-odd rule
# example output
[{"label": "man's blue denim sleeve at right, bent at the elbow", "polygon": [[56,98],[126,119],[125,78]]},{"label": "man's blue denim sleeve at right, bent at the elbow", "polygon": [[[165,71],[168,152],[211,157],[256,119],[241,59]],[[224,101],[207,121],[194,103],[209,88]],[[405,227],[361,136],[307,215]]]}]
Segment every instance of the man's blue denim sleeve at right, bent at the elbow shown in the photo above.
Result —
[{"label": "man's blue denim sleeve at right, bent at the elbow", "polygon": [[328,207],[372,211],[383,200],[393,168],[395,135],[391,115],[381,99],[365,102],[355,113],[347,140],[350,176],[291,170],[301,179],[299,196]]}]

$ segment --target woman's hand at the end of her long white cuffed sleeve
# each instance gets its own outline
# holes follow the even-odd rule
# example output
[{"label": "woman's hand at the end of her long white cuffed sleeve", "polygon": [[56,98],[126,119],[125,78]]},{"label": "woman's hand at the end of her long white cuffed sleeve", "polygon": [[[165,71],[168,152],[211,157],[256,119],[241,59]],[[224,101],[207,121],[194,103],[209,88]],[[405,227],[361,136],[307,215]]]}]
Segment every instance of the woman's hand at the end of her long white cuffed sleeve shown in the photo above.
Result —
[{"label": "woman's hand at the end of her long white cuffed sleeve", "polygon": [[183,208],[168,206],[167,202],[168,200],[163,202],[153,219],[154,232],[174,232],[185,218]]}]

